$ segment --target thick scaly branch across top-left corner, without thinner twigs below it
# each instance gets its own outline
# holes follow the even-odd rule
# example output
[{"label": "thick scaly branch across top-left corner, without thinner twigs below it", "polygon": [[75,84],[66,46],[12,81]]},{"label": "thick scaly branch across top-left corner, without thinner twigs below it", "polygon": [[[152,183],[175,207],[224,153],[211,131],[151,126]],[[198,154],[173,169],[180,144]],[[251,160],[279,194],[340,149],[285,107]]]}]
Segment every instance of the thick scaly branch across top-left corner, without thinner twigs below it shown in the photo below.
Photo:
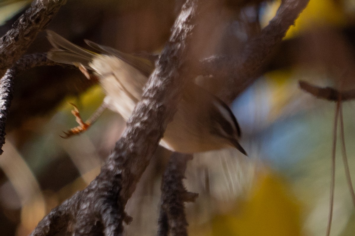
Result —
[{"label": "thick scaly branch across top-left corner, without thinner twigs below it", "polygon": [[10,68],[64,5],[66,0],[35,0],[0,38],[0,75]]}]

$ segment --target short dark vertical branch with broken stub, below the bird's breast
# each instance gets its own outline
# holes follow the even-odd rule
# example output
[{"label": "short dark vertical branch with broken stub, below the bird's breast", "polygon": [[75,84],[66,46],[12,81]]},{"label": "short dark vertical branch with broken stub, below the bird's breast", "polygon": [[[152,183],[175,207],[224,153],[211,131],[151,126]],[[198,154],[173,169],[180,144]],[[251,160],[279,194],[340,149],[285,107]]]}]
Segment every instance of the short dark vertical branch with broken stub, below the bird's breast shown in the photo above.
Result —
[{"label": "short dark vertical branch with broken stub, below the bird's breast", "polygon": [[195,201],[198,194],[188,192],[184,179],[186,163],[191,155],[174,153],[162,179],[162,197],[158,221],[158,236],[187,236],[184,203]]}]

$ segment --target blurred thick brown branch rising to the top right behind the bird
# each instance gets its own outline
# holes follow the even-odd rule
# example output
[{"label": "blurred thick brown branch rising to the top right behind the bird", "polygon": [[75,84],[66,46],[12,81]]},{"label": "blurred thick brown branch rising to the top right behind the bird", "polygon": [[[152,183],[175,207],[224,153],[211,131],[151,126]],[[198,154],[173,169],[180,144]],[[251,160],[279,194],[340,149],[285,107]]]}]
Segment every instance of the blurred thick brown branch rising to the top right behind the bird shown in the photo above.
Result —
[{"label": "blurred thick brown branch rising to the top right behind the bird", "polygon": [[[249,40],[243,52],[231,56],[214,56],[202,62],[200,73],[214,75],[220,84],[210,90],[231,103],[261,74],[261,67],[287,30],[294,24],[309,0],[284,0],[275,17],[255,38]],[[212,83],[216,86],[216,83]]]}]

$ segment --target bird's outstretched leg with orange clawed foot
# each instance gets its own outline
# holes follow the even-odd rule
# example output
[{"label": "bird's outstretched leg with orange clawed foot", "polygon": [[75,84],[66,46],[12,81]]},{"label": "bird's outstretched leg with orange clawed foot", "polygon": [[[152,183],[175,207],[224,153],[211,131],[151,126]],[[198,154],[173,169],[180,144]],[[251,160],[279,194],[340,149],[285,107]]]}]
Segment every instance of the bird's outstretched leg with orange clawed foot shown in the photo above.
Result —
[{"label": "bird's outstretched leg with orange clawed foot", "polygon": [[80,134],[85,132],[98,118],[99,116],[103,113],[103,111],[107,108],[107,103],[103,102],[100,107],[94,112],[94,114],[91,115],[91,117],[84,122],[81,119],[80,113],[76,105],[70,103],[73,107],[74,110],[71,111],[71,113],[76,117],[76,122],[78,122],[78,126],[69,129],[68,131],[63,131],[65,136],[60,136],[62,138],[69,138],[73,135]]}]

